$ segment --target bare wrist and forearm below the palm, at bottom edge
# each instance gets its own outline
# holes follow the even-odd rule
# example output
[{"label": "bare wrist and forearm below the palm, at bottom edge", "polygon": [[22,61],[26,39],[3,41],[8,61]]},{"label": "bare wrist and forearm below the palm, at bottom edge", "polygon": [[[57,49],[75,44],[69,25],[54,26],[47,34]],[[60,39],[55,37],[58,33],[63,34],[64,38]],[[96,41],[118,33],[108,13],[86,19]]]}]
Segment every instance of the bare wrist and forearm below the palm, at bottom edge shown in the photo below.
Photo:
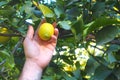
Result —
[{"label": "bare wrist and forearm below the palm, at bottom edge", "polygon": [[40,80],[42,69],[33,61],[27,60],[24,64],[19,80]]}]

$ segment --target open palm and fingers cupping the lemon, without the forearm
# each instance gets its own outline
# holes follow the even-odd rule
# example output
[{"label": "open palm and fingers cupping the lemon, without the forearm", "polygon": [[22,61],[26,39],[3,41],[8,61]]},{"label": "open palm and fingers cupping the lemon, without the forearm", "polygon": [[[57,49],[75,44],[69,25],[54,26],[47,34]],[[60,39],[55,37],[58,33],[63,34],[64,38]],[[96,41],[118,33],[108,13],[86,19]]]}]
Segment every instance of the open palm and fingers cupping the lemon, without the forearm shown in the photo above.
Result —
[{"label": "open palm and fingers cupping the lemon, without the forearm", "polygon": [[[44,23],[43,20],[41,22]],[[56,23],[53,23],[56,27]],[[54,49],[56,47],[58,37],[58,29],[55,28],[54,35],[49,41],[43,41],[38,36],[38,31],[34,33],[32,26],[29,26],[26,38],[23,42],[26,61],[32,61],[38,65],[41,69],[44,69],[50,62]]]}]

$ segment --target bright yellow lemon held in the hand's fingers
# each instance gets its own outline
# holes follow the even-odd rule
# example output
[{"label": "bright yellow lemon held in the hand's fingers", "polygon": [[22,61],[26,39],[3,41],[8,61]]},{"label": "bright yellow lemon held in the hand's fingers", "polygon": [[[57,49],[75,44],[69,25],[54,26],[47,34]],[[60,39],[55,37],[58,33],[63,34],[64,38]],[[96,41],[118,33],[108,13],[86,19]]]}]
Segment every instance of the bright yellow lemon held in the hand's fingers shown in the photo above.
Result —
[{"label": "bright yellow lemon held in the hand's fingers", "polygon": [[49,40],[54,34],[54,27],[50,23],[43,23],[38,29],[38,35],[42,40]]}]

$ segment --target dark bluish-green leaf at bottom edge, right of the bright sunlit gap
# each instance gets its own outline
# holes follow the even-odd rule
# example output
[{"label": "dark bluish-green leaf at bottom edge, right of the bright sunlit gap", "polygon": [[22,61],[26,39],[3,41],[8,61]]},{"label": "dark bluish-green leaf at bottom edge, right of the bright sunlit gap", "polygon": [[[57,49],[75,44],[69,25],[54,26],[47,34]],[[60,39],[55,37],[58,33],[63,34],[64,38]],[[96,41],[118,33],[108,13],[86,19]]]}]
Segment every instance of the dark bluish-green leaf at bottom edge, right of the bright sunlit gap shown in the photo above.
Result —
[{"label": "dark bluish-green leaf at bottom edge, right of the bright sunlit gap", "polygon": [[111,73],[112,70],[100,65],[95,70],[93,80],[105,80]]}]

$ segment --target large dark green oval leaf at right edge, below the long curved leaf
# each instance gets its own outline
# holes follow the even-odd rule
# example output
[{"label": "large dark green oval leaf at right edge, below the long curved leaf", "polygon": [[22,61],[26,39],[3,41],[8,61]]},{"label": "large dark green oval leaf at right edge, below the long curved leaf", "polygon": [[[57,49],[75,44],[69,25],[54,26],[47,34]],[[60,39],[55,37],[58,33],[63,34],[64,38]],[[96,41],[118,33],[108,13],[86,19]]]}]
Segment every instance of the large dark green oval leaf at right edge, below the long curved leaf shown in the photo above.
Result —
[{"label": "large dark green oval leaf at right edge, below the long curved leaf", "polygon": [[96,34],[97,45],[103,45],[107,42],[110,42],[116,37],[118,33],[119,33],[119,29],[115,26],[104,27]]}]

